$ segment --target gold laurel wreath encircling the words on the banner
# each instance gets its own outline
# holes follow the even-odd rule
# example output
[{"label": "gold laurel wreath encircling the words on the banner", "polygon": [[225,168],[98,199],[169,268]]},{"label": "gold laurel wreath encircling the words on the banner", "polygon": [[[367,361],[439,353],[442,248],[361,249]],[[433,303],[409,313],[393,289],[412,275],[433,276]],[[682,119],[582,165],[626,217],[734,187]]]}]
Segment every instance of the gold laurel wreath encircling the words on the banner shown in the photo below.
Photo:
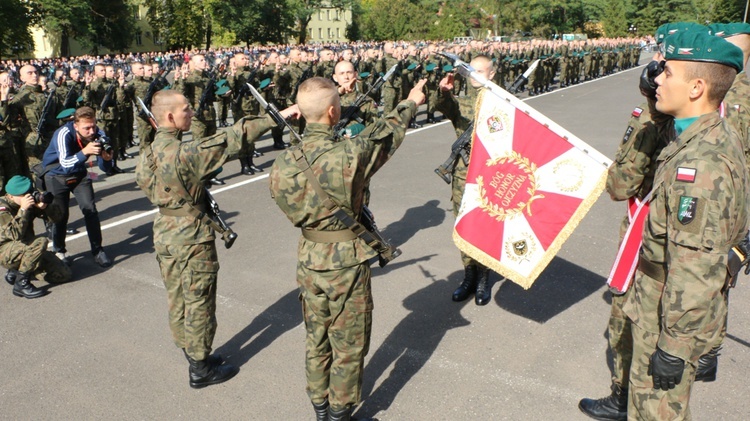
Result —
[{"label": "gold laurel wreath encircling the words on the banner", "polygon": [[483,211],[487,212],[490,216],[495,218],[495,220],[497,221],[504,221],[506,219],[513,218],[523,213],[524,211],[526,211],[526,213],[531,216],[531,202],[536,199],[544,198],[544,195],[536,194],[536,164],[530,162],[528,158],[523,157],[518,152],[511,151],[508,155],[502,155],[496,158],[488,159],[486,165],[487,167],[494,167],[496,165],[502,165],[506,163],[515,165],[515,167],[519,170],[519,175],[523,175],[528,178],[529,187],[526,189],[526,193],[528,194],[529,198],[527,201],[522,200],[518,202],[513,208],[503,206],[502,204],[490,200],[484,184],[484,177],[481,175],[477,176],[476,182],[477,186],[479,187],[480,196],[479,207]]}]

